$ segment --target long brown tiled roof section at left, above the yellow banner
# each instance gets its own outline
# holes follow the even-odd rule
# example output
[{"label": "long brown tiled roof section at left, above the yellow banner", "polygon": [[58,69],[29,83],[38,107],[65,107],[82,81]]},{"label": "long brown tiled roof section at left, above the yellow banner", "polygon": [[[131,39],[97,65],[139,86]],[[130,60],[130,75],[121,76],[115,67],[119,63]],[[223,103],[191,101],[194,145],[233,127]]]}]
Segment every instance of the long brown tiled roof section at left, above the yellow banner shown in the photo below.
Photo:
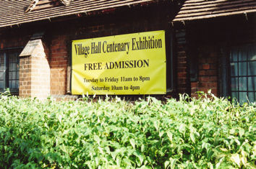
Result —
[{"label": "long brown tiled roof section at left, above the yellow banner", "polygon": [[132,6],[148,4],[154,0],[74,0],[69,6],[59,3],[59,0],[40,0],[32,12],[25,13],[30,5],[30,0],[0,0],[0,27],[19,25],[27,22],[35,22],[55,17],[63,17],[72,14],[88,14],[90,12],[117,8],[120,6]]}]

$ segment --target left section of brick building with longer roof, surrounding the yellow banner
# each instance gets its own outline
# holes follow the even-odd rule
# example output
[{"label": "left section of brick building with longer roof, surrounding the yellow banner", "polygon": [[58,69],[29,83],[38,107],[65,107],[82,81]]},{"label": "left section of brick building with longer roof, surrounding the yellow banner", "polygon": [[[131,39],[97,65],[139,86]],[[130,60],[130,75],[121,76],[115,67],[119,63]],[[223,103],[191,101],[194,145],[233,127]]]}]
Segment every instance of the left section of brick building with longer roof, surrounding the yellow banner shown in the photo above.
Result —
[{"label": "left section of brick building with longer roof, surrounding the yellow banner", "polygon": [[[39,1],[25,13],[30,1],[2,1],[1,84],[21,97],[72,95],[72,41],[111,35],[164,30],[166,34],[166,86],[172,93],[171,74],[174,18],[172,1]],[[13,17],[10,5],[16,9]],[[14,55],[14,59],[9,58]],[[169,92],[170,91],[170,92]]]}]

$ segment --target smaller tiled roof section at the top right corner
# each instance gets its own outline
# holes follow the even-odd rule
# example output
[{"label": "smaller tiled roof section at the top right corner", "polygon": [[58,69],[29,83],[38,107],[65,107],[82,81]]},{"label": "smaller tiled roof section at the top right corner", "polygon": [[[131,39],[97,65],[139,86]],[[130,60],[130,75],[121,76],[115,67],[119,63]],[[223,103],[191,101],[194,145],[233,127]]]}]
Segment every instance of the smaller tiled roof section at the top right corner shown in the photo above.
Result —
[{"label": "smaller tiled roof section at the top right corner", "polygon": [[256,12],[255,0],[188,0],[174,22]]}]

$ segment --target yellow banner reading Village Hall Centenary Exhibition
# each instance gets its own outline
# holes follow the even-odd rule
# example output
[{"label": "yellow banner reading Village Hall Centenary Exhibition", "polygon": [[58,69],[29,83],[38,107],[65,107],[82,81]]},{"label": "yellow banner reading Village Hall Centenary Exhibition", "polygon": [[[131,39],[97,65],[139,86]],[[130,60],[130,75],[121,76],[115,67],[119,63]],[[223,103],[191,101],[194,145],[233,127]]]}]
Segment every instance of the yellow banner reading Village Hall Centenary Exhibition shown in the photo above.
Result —
[{"label": "yellow banner reading Village Hall Centenary Exhibition", "polygon": [[166,93],[164,31],[72,41],[72,94]]}]

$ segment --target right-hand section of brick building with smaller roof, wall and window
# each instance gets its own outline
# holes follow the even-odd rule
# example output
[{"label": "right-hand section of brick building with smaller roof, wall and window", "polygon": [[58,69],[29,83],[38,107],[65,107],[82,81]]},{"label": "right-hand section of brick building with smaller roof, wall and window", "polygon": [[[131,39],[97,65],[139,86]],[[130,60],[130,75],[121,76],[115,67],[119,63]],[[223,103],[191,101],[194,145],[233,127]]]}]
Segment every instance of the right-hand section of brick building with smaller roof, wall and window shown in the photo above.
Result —
[{"label": "right-hand section of brick building with smaller roof, wall and window", "polygon": [[256,100],[256,1],[185,1],[173,24],[184,30],[188,93]]}]

